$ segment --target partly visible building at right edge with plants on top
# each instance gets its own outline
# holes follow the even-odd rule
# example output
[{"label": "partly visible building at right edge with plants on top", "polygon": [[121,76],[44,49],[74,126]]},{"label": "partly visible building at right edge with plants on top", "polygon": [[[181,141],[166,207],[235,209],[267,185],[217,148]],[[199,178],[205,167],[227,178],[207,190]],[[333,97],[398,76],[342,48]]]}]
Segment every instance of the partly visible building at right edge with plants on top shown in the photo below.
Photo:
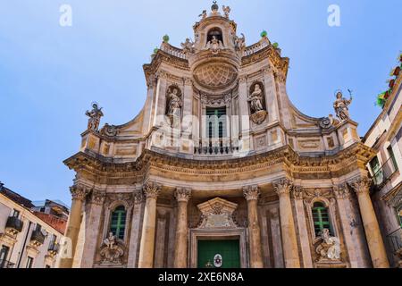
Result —
[{"label": "partly visible building at right edge with plants on top", "polygon": [[[400,58],[402,63],[402,56]],[[376,156],[368,164],[373,178],[372,198],[393,266],[402,267],[402,72],[395,68],[383,109],[364,136]]]}]

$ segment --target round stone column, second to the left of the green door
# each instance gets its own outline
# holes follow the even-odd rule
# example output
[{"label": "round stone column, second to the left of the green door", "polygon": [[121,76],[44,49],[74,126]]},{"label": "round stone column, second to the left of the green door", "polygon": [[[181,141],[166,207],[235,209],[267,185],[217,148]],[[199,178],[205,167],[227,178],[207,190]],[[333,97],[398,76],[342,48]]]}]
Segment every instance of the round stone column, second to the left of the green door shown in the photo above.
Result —
[{"label": "round stone column, second to the left of the green door", "polygon": [[155,248],[156,198],[161,191],[161,187],[153,182],[147,182],[143,191],[147,200],[142,224],[138,268],[152,268]]}]

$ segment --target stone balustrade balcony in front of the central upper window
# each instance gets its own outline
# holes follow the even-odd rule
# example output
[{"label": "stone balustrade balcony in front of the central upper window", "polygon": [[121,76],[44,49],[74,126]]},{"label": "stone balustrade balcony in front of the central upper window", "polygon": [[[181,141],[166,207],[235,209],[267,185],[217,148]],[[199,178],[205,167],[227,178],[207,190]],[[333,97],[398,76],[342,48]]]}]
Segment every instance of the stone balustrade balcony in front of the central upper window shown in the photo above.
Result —
[{"label": "stone balustrade balcony in front of the central upper window", "polygon": [[194,147],[196,156],[225,156],[237,151],[239,151],[239,147],[234,147],[230,139],[201,139],[199,145]]}]

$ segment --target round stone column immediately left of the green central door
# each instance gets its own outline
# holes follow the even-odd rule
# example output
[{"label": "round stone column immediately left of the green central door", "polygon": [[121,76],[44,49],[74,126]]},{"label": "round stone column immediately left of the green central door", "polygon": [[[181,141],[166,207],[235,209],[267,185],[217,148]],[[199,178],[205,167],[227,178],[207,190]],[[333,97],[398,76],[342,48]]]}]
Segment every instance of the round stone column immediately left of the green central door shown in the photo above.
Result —
[{"label": "round stone column immediately left of the green central door", "polygon": [[175,197],[177,199],[177,226],[176,241],[174,248],[174,268],[187,267],[187,232],[188,216],[187,205],[191,197],[191,189],[176,189]]}]

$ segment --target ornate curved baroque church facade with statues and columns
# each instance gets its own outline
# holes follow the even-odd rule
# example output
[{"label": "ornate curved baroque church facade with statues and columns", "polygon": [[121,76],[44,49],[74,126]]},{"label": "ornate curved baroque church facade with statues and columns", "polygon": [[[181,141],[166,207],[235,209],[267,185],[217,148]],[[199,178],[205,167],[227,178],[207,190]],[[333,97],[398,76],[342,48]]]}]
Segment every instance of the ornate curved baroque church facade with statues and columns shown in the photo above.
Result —
[{"label": "ornate curved baroque church facade with statues and columns", "polygon": [[389,267],[365,165],[374,156],[337,94],[300,113],[289,58],[247,46],[217,4],[181,48],[144,65],[146,103],[99,128],[88,111],[61,267]]}]

